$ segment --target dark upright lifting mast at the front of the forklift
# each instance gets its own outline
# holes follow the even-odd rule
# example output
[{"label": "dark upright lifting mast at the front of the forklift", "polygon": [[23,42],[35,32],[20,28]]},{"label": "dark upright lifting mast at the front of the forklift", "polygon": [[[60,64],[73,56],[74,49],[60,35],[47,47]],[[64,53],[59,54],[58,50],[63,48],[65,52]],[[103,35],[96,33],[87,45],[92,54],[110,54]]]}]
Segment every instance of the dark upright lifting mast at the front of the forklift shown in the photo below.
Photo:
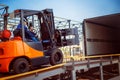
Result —
[{"label": "dark upright lifting mast at the front of the forklift", "polygon": [[[50,44],[51,47],[55,47],[55,25],[52,9],[45,9],[41,12],[40,16],[41,25],[41,39],[43,43]],[[44,45],[44,44],[43,44]]]}]

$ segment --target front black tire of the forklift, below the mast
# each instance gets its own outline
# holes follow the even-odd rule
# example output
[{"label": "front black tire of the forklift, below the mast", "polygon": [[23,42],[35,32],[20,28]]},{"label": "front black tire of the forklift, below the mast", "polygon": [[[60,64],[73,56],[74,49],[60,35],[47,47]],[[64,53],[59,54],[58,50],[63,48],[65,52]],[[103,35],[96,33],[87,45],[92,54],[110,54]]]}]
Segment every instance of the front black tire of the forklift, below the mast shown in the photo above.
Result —
[{"label": "front black tire of the forklift, below the mast", "polygon": [[52,51],[52,54],[50,56],[50,64],[56,65],[63,62],[63,54],[60,49],[55,49]]}]

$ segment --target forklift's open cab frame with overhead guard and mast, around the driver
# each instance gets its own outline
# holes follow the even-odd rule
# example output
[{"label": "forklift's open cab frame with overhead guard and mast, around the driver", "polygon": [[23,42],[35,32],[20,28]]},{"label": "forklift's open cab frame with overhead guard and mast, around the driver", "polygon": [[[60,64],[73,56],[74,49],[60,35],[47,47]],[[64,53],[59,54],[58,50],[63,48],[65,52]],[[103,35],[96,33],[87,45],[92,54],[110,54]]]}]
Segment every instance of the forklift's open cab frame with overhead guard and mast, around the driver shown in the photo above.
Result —
[{"label": "forklift's open cab frame with overhead guard and mast, around the driver", "polygon": [[[46,50],[55,47],[55,26],[52,9],[45,9],[43,11],[18,9],[14,11],[14,16],[19,18],[21,24],[21,30],[14,32],[15,36],[16,34],[20,34],[19,36],[21,36],[23,41],[37,50]],[[24,28],[24,19],[27,21],[28,27],[32,23],[38,41],[34,42],[27,39],[26,36],[28,34]]]}]

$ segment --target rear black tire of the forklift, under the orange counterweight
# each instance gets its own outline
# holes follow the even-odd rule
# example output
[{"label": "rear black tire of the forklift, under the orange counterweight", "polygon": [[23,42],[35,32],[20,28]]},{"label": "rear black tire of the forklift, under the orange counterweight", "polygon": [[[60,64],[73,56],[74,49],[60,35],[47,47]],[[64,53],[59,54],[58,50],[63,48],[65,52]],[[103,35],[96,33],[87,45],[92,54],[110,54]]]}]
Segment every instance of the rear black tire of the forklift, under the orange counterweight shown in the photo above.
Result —
[{"label": "rear black tire of the forklift, under the orange counterweight", "polygon": [[13,70],[16,74],[27,72],[29,69],[29,63],[25,58],[19,58],[13,63]]}]

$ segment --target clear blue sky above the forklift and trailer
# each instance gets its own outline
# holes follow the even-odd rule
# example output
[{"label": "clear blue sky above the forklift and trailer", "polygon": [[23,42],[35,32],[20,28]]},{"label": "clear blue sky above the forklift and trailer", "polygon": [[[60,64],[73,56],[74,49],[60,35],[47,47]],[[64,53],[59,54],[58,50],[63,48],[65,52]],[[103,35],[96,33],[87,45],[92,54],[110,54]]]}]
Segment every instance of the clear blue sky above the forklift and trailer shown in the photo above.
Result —
[{"label": "clear blue sky above the forklift and trailer", "polygon": [[54,16],[76,21],[120,13],[120,0],[0,0],[0,4],[8,5],[9,12],[51,8]]}]

